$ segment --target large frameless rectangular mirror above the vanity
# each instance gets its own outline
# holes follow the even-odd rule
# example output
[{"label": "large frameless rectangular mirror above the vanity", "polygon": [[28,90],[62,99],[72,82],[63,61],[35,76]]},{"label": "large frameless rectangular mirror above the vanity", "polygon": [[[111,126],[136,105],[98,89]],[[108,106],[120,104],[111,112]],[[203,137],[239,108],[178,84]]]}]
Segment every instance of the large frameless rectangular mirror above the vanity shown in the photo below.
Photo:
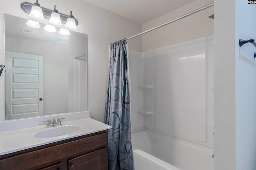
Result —
[{"label": "large frameless rectangular mirror above the vanity", "polygon": [[27,21],[4,15],[5,120],[86,111],[87,35]]}]

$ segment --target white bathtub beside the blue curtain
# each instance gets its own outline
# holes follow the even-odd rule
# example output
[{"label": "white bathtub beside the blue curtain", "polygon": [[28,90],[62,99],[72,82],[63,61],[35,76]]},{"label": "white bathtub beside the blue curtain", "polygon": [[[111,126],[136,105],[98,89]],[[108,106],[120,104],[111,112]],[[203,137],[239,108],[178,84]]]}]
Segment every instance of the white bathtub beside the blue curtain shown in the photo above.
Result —
[{"label": "white bathtub beside the blue curtain", "polygon": [[132,130],[135,170],[213,170],[213,149],[146,128]]}]

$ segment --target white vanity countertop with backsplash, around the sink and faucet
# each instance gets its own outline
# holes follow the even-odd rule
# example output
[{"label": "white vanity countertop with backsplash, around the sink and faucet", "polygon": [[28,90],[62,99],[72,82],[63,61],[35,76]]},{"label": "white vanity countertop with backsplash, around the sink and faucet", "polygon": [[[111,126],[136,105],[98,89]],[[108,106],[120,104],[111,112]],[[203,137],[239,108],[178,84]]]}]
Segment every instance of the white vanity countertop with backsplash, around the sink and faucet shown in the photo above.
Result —
[{"label": "white vanity countertop with backsplash, around the sink and faucet", "polygon": [[[42,123],[42,121],[48,119],[52,120],[53,118],[58,119],[60,117],[66,118],[62,121],[61,126],[76,125],[80,127],[80,130],[68,135],[61,135],[57,137],[34,137],[34,135],[38,132],[54,128],[46,127],[46,123]],[[88,135],[110,128],[111,127],[109,125],[92,119],[90,117],[90,111],[4,121],[0,122],[0,155],[9,154],[24,149],[30,149],[33,147],[79,137],[82,135]]]}]

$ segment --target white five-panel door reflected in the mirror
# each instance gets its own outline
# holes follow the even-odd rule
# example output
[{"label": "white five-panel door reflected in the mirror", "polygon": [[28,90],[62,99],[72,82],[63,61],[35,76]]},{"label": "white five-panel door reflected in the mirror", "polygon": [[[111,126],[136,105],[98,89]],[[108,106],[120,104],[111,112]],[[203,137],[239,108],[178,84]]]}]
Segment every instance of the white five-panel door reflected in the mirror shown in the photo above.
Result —
[{"label": "white five-panel door reflected in the mirror", "polygon": [[5,51],[6,120],[44,113],[44,57]]}]

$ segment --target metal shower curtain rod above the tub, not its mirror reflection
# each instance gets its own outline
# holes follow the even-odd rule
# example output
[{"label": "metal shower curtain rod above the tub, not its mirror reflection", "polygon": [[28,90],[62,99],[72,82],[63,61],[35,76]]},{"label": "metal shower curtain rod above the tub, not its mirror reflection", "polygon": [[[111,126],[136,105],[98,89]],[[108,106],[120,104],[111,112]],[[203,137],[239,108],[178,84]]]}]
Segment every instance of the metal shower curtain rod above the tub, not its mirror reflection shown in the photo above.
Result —
[{"label": "metal shower curtain rod above the tub, not its mirror reflection", "polygon": [[158,28],[160,28],[160,27],[163,27],[164,25],[168,25],[169,23],[178,21],[178,20],[180,20],[180,19],[182,19],[182,18],[185,18],[185,17],[187,17],[187,16],[190,16],[190,15],[192,15],[192,14],[195,14],[195,13],[197,13],[197,12],[200,12],[200,11],[202,11],[202,10],[205,10],[206,8],[210,8],[211,6],[214,6],[214,2],[212,2],[212,3],[210,3],[210,4],[206,5],[206,6],[203,6],[203,7],[201,7],[201,8],[198,8],[197,10],[194,10],[194,11],[192,11],[192,12],[189,12],[189,13],[187,13],[187,14],[184,14],[183,16],[180,16],[180,17],[178,17],[178,18],[175,18],[175,19],[173,19],[173,20],[170,20],[170,21],[168,21],[168,22],[166,22],[166,23],[163,23],[163,24],[161,24],[161,25],[158,25],[158,26],[156,26],[156,27],[154,27],[154,28],[148,29],[147,31],[144,31],[144,32],[142,32],[142,33],[139,33],[139,34],[134,35],[134,36],[129,37],[129,38],[125,38],[125,39],[123,39],[123,40],[129,40],[129,39],[138,37],[138,36],[140,36],[140,35],[142,35],[142,34],[145,34],[145,33],[148,33],[148,32],[150,32],[150,31],[153,31],[154,29],[158,29]]}]

